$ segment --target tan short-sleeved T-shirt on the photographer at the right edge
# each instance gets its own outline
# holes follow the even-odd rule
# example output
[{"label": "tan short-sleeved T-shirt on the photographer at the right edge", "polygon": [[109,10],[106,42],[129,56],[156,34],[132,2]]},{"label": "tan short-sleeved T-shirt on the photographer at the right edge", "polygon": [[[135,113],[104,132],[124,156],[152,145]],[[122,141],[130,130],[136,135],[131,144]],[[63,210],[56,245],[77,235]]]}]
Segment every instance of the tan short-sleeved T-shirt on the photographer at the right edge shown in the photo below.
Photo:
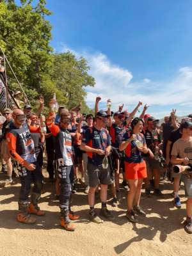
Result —
[{"label": "tan short-sleeved T-shirt on the photographer at the right edge", "polygon": [[184,141],[182,138],[175,141],[172,148],[172,156],[180,158],[188,157],[189,163],[192,164],[192,137],[189,141]]}]

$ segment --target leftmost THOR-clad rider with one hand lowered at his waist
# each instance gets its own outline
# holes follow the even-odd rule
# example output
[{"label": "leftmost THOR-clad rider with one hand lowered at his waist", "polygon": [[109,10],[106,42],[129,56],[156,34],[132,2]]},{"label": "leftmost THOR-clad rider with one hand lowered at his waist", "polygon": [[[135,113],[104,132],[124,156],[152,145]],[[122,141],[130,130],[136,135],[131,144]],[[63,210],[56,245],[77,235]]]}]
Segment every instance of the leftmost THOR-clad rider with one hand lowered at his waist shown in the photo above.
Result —
[{"label": "leftmost THOR-clad rider with one hand lowered at his waist", "polygon": [[[22,223],[35,223],[36,218],[30,213],[42,216],[45,214],[38,207],[42,189],[41,168],[36,161],[35,147],[31,138],[31,132],[40,132],[39,127],[29,127],[26,123],[26,115],[20,109],[13,111],[13,125],[6,134],[10,154],[19,163],[19,176],[21,182],[19,195],[19,214],[17,220]],[[28,196],[31,183],[34,183],[31,194],[31,204]]]}]

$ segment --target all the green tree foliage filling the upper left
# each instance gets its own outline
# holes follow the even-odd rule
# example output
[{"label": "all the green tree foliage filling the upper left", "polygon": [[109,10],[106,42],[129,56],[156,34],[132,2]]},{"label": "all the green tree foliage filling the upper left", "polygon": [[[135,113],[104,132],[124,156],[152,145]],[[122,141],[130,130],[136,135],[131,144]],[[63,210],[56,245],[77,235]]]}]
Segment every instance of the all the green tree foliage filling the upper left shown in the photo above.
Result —
[{"label": "all the green tree foliage filling the upper left", "polygon": [[[0,45],[33,106],[38,95],[43,94],[48,102],[56,92],[60,104],[72,108],[83,102],[86,109],[85,87],[95,84],[88,74],[88,63],[72,52],[53,53],[51,25],[46,20],[51,12],[45,0],[35,3],[20,0],[18,5],[14,0],[0,1]],[[8,77],[14,89],[9,69]]]}]

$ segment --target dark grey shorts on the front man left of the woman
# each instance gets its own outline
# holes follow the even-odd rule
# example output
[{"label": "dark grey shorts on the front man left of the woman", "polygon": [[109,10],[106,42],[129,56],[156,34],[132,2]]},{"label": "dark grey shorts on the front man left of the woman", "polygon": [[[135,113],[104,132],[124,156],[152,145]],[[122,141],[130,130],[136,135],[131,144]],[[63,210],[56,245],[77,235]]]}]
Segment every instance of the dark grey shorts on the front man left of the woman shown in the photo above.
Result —
[{"label": "dark grey shorts on the front man left of the woman", "polygon": [[99,184],[113,184],[113,180],[111,179],[111,169],[109,165],[107,169],[104,169],[102,168],[102,166],[97,166],[95,164],[88,162],[87,170],[90,187],[95,188]]}]

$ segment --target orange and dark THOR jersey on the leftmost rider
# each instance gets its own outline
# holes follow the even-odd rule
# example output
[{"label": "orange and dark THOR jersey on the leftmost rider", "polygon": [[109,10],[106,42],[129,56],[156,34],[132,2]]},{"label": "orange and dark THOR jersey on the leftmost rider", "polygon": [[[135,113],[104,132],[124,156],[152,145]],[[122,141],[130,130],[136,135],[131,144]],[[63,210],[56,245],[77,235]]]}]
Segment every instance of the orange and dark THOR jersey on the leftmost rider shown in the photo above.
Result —
[{"label": "orange and dark THOR jersey on the leftmost rider", "polygon": [[10,154],[22,165],[25,165],[26,162],[34,163],[36,161],[34,143],[29,130],[39,132],[39,128],[28,127],[28,124],[24,124],[20,128],[12,125],[12,128],[6,133]]}]

